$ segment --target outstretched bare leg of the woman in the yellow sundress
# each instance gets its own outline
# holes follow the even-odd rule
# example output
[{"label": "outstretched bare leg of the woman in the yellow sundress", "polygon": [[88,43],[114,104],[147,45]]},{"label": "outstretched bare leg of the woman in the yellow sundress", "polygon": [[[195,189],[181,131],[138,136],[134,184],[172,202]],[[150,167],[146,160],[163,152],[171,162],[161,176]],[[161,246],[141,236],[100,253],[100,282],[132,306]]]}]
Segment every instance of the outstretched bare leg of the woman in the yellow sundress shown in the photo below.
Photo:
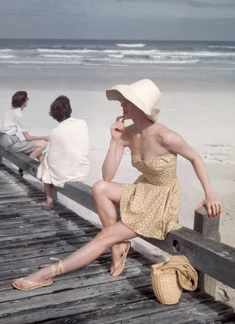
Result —
[{"label": "outstretched bare leg of the woman in the yellow sundress", "polygon": [[[92,241],[62,260],[64,270],[65,272],[69,272],[79,269],[84,265],[96,260],[106,249],[112,247],[114,244],[134,238],[136,236],[136,233],[126,227],[121,221],[114,225],[105,227]],[[55,269],[57,269],[58,266],[59,263],[56,263]],[[30,274],[24,279],[40,284],[51,280],[51,278],[52,269],[51,267],[46,267]],[[19,288],[24,289],[30,289],[34,286],[32,284],[22,282],[21,279],[14,279],[13,283]]]}]

